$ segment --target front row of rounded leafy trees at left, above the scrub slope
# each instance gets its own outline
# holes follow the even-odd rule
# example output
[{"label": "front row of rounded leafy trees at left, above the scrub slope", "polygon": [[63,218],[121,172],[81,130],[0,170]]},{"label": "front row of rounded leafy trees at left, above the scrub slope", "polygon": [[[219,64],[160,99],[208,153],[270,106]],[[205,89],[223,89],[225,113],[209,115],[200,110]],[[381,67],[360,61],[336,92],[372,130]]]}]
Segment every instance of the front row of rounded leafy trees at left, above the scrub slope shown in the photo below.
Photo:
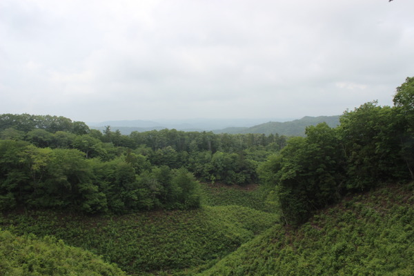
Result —
[{"label": "front row of rounded leafy trees at left, above the scrub slope", "polygon": [[[88,135],[78,137],[84,141]],[[151,167],[146,157],[133,153],[101,161],[75,149],[0,140],[0,164],[1,210],[25,206],[125,213],[199,206],[198,184],[190,172]]]}]

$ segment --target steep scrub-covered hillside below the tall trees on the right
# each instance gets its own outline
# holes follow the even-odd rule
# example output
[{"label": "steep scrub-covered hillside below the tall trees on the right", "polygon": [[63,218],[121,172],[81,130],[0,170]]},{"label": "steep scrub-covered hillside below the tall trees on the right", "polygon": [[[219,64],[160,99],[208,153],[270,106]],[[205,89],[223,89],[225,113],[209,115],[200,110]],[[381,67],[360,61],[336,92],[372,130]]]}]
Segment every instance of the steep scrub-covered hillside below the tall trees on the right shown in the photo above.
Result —
[{"label": "steep scrub-covered hillside below the tall trees on the right", "polygon": [[273,226],[199,276],[413,275],[413,187],[344,199],[296,230]]}]

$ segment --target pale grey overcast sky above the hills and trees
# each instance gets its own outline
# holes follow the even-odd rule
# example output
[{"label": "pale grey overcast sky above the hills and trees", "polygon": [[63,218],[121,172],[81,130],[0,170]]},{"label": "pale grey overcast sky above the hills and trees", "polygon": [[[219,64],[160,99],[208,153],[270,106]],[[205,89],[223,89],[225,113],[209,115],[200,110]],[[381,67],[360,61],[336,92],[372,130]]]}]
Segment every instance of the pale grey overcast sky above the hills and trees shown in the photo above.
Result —
[{"label": "pale grey overcast sky above the hills and trees", "polygon": [[414,1],[1,0],[0,113],[340,115],[414,76]]}]

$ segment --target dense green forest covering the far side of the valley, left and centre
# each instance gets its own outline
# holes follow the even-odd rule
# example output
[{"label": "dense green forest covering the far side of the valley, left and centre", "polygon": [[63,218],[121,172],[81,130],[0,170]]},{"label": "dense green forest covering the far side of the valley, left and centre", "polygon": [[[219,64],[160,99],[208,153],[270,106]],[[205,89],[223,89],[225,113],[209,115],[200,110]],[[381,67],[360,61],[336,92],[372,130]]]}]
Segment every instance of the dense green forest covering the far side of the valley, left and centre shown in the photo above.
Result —
[{"label": "dense green forest covering the far side of the valley, left and centre", "polygon": [[279,135],[152,130],[121,135],[65,117],[0,115],[0,209],[124,213],[199,206],[197,180],[257,181]]}]

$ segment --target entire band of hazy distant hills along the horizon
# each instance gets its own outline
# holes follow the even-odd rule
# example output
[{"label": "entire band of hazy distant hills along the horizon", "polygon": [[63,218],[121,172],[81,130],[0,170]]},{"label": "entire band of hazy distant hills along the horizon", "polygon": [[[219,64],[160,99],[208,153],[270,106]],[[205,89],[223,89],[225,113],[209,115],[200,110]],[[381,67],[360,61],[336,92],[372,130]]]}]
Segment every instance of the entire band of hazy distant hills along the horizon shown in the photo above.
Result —
[{"label": "entire band of hazy distant hills along the horizon", "polygon": [[302,119],[187,119],[187,120],[161,120],[161,121],[103,121],[101,123],[87,123],[92,129],[104,130],[110,126],[111,130],[119,130],[124,135],[132,131],[144,132],[149,130],[161,130],[164,128],[183,131],[213,131],[215,133],[244,134],[264,133],[266,135],[278,133],[286,136],[304,136],[306,126],[315,126],[326,122],[328,126],[339,125],[339,115],[303,117]]}]

